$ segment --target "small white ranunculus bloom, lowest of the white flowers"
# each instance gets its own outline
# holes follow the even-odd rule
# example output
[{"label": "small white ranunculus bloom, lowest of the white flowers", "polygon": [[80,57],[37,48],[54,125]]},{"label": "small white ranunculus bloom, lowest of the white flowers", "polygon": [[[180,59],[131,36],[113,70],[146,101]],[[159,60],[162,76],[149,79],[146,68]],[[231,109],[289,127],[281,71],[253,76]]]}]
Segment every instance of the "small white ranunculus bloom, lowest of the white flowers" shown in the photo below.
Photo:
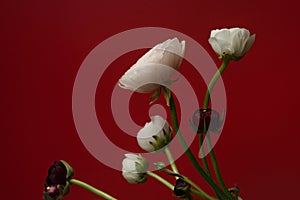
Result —
[{"label": "small white ranunculus bloom, lowest of the white flowers", "polygon": [[147,180],[148,162],[141,155],[125,154],[122,175],[129,183],[144,183]]}]

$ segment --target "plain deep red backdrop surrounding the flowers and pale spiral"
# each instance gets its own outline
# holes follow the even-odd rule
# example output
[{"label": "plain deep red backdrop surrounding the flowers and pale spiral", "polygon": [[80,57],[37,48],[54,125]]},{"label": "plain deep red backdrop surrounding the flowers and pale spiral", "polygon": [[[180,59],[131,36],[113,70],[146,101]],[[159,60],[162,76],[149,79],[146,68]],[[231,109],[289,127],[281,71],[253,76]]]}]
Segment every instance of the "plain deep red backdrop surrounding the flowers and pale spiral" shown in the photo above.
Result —
[{"label": "plain deep red backdrop surrounding the flowers and pale spiral", "polygon": [[[207,42],[211,29],[239,26],[256,33],[252,49],[241,61],[231,63],[223,76],[228,110],[215,152],[226,183],[237,183],[244,199],[297,198],[300,31],[296,1],[28,0],[1,1],[0,9],[1,198],[41,199],[48,167],[64,159],[75,169],[76,178],[119,199],[175,199],[152,179],[130,185],[119,171],[98,162],[82,145],[73,123],[73,83],[84,58],[108,37],[145,26],[191,36],[217,64]],[[108,72],[99,88],[115,84],[140,55],[123,56],[122,62],[112,64],[118,64],[117,70]],[[189,73],[188,68],[181,69]],[[101,106],[97,111],[109,112]],[[114,126],[111,130],[115,143],[131,148],[134,140],[120,142],[124,134]],[[192,149],[198,152],[197,144]],[[206,188],[185,156],[178,165]],[[97,197],[73,186],[66,199]]]}]

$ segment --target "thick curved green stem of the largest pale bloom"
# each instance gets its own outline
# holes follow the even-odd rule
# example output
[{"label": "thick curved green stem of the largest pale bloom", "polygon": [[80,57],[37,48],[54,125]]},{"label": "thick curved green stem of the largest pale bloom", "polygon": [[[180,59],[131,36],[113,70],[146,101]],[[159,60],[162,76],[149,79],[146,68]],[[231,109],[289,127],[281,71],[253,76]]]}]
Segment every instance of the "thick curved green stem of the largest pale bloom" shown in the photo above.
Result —
[{"label": "thick curved green stem of the largest pale bloom", "polygon": [[188,158],[192,162],[193,166],[197,170],[197,172],[204,178],[204,180],[213,188],[217,196],[222,197],[222,199],[227,200],[228,197],[225,195],[225,193],[217,186],[217,184],[206,174],[206,172],[201,168],[199,163],[197,162],[195,156],[193,155],[192,151],[189,149],[188,145],[186,144],[178,125],[178,119],[177,119],[177,112],[176,112],[176,106],[174,102],[173,95],[170,94],[170,111],[172,115],[172,122],[174,126],[174,131],[177,133],[178,140],[185,150],[185,153],[187,154]]}]

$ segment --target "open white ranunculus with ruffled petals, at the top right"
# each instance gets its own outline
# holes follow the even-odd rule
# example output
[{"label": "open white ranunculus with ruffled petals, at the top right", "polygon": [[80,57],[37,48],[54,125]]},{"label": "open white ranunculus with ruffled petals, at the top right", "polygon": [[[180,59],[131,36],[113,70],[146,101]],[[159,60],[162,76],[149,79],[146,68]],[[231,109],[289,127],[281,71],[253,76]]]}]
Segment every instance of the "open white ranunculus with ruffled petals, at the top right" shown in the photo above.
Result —
[{"label": "open white ranunculus with ruffled petals, at the top right", "polygon": [[255,40],[255,34],[244,28],[217,29],[210,33],[209,43],[220,59],[225,56],[239,60],[250,49]]}]

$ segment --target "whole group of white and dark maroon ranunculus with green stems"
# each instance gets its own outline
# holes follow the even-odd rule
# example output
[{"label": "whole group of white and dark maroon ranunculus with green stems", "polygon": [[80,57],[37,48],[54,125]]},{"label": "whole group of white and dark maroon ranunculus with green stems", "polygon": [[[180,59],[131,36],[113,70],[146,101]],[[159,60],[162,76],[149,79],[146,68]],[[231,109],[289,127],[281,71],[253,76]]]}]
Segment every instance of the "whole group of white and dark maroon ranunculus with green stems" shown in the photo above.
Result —
[{"label": "whole group of white and dark maroon ranunculus with green stems", "polygon": [[[221,76],[221,73],[225,70],[230,60],[237,61],[244,56],[244,54],[252,46],[254,40],[255,35],[250,36],[249,31],[243,28],[211,31],[209,43],[218,55],[219,59],[223,60],[223,63],[219,68],[219,72],[216,73],[216,76],[209,85],[211,88],[210,90],[207,90],[203,108],[196,110],[192,117],[192,125],[194,126],[193,129],[199,134],[200,138],[204,137],[203,135],[207,134],[208,131],[218,133],[223,124],[223,119],[220,117],[220,114],[217,111],[208,108],[210,98],[209,92],[212,91],[215,81],[219,76]],[[179,136],[181,133],[177,124],[176,106],[174,104],[172,92],[166,86],[162,86],[157,83],[163,82],[170,84],[172,82],[169,80],[172,75],[172,71],[165,70],[164,66],[178,70],[182,63],[184,52],[185,41],[180,42],[177,38],[166,40],[165,42],[156,45],[142,56],[119,80],[119,86],[124,89],[129,89],[138,93],[154,93],[152,97],[154,96],[155,98],[151,101],[151,103],[155,102],[159,98],[161,91],[164,91],[167,105],[171,110],[173,125],[171,126],[159,115],[152,116],[151,121],[146,123],[145,126],[137,133],[137,142],[139,146],[147,152],[165,152],[170,161],[172,170],[168,169],[161,162],[157,162],[155,165],[159,171],[166,171],[168,174],[175,176],[175,184],[173,185],[159,175],[147,171],[149,167],[147,159],[141,155],[132,153],[125,154],[125,159],[122,162],[122,175],[129,183],[134,184],[144,183],[147,180],[147,177],[151,176],[173,190],[173,194],[178,198],[193,199],[193,194],[208,200],[241,199],[238,195],[239,189],[237,187],[228,189],[225,186],[220,177],[216,163],[214,165],[214,167],[216,167],[214,170],[216,172],[219,185],[215,183],[210,175],[205,158],[203,158],[203,166],[205,170],[202,170],[192,152],[187,146],[185,146],[186,143],[182,137],[179,137],[179,140],[181,140],[183,147],[187,149],[186,154],[199,174],[213,188],[217,198],[208,195],[189,178],[180,174],[172,154],[168,149],[168,145],[173,138],[173,130]],[[144,84],[145,82],[148,84]],[[213,155],[212,160],[214,161],[214,159],[215,156]],[[92,186],[72,179],[72,175],[73,169],[65,161],[56,162],[53,166],[51,166],[48,172],[48,177],[46,178],[44,199],[61,199],[68,194],[71,184],[77,184],[84,187],[103,198],[115,199],[102,191],[98,190],[95,192],[96,189]]]}]

